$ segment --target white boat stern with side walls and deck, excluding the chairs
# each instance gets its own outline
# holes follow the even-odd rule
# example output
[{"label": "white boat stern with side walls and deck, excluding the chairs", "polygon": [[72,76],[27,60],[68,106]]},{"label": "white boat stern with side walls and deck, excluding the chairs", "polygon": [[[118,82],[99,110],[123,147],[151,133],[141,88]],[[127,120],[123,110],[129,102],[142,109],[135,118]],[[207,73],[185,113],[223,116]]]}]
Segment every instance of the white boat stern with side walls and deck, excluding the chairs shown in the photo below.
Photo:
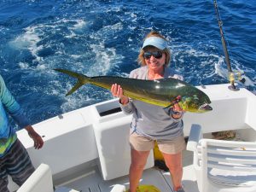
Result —
[{"label": "white boat stern with side walls and deck, excluding the chairs", "polygon": [[[216,131],[236,131],[240,140],[256,143],[256,96],[239,84],[237,90],[230,90],[229,85],[197,86],[210,97],[213,110],[185,113],[185,137],[189,137],[191,126],[196,124],[201,125],[204,137],[212,137],[211,133]],[[131,115],[123,113],[119,100],[113,98],[33,125],[44,138],[44,148],[40,150],[33,148],[25,130],[17,135],[35,167],[50,167],[56,189],[110,192],[117,185],[129,188],[130,123]],[[153,151],[140,184],[154,185],[161,192],[172,191],[169,172],[154,167]],[[183,151],[183,185],[186,192],[199,191],[193,153],[187,150]],[[18,187],[10,180],[9,189],[15,191]]]}]

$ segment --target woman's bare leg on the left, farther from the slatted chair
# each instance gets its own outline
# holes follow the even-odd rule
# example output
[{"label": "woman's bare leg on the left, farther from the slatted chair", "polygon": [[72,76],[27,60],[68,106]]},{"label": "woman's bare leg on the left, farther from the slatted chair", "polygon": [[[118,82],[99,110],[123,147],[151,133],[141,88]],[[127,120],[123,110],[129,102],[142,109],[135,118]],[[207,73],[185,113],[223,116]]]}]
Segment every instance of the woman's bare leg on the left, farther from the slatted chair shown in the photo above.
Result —
[{"label": "woman's bare leg on the left, farther from the slatted chair", "polygon": [[131,148],[131,166],[129,172],[130,192],[136,192],[143,168],[146,165],[150,151],[137,151]]}]

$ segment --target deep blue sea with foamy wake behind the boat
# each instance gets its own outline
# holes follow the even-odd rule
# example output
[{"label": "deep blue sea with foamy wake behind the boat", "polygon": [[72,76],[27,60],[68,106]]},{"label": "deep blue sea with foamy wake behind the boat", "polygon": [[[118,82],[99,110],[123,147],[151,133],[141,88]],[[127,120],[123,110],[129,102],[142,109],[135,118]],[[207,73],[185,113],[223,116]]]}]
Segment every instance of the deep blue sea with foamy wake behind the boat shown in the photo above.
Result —
[{"label": "deep blue sea with foamy wake behind the boat", "polygon": [[[256,3],[219,0],[218,10],[231,67],[256,93]],[[54,68],[127,77],[152,30],[186,82],[229,83],[213,0],[0,0],[0,73],[35,124],[112,98],[90,84],[65,96],[75,80]]]}]

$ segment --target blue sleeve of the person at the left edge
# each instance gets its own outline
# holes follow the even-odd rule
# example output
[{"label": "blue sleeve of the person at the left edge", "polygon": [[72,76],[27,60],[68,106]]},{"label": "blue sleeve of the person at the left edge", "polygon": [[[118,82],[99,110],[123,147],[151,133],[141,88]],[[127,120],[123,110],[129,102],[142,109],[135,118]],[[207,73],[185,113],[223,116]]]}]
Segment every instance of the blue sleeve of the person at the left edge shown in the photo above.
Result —
[{"label": "blue sleeve of the person at the left edge", "polygon": [[23,109],[20,108],[20,104],[15,101],[15,97],[11,95],[9,90],[7,89],[2,76],[0,75],[0,99],[3,103],[3,107],[9,113],[9,115],[15,119],[15,122],[21,128],[26,127],[29,124],[28,119],[23,112]]}]

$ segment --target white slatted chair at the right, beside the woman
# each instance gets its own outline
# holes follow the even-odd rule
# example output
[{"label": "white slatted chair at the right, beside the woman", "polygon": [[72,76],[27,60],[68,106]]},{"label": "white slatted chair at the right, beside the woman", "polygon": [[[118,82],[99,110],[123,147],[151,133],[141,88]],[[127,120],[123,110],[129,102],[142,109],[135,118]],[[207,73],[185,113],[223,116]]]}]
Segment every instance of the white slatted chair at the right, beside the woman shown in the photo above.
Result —
[{"label": "white slatted chair at the right, beside the woman", "polygon": [[256,191],[256,143],[203,138],[201,125],[192,125],[187,150],[200,192]]}]

